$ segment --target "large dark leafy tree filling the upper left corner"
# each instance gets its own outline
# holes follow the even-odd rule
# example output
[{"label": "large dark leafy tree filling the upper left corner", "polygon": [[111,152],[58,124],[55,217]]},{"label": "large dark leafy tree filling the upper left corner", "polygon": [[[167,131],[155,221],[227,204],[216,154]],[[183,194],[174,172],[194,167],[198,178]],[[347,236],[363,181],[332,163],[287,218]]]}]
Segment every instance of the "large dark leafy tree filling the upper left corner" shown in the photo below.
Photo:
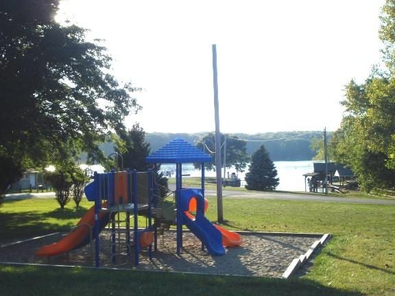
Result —
[{"label": "large dark leafy tree filling the upper left corner", "polygon": [[[0,2],[0,157],[14,167],[43,167],[80,151],[103,160],[98,143],[139,110],[134,88],[109,74],[111,58],[99,40],[86,42],[85,29],[54,21],[58,5]],[[9,171],[8,182],[17,175]]]}]

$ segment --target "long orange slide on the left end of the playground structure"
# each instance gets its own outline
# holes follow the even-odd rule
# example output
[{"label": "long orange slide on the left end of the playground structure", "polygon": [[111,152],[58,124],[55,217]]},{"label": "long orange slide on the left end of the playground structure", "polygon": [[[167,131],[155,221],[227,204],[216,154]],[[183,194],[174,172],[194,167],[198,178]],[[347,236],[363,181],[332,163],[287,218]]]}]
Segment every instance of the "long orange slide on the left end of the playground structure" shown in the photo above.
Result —
[{"label": "long orange slide on the left end of the playground structure", "polygon": [[[103,204],[103,207],[106,207],[106,202]],[[101,224],[107,224],[106,220],[108,220],[108,212],[99,212],[99,220],[104,222]],[[91,227],[95,225],[95,206],[90,208],[77,223],[77,226],[81,225],[80,227],[75,230],[71,230],[71,232],[59,240],[58,243],[40,247],[40,249],[36,251],[35,255],[45,257],[57,256],[89,243],[90,227],[87,225],[82,226],[84,224],[90,225]]]}]

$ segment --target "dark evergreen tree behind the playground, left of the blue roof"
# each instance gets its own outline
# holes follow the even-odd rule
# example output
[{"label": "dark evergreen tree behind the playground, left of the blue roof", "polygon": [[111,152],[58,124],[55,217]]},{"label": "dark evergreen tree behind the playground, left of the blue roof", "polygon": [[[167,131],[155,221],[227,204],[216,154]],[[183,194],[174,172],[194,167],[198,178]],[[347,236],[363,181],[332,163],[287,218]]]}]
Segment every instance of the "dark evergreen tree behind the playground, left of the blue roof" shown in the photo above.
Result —
[{"label": "dark evergreen tree behind the playground, left of the blue roof", "polygon": [[[145,142],[145,132],[139,123],[134,124],[132,130],[122,132],[119,137],[122,141],[115,147],[115,151],[121,153],[123,167],[136,171],[147,171],[151,168],[151,165],[145,161],[145,158],[151,153],[151,148],[149,143]],[[160,197],[165,197],[169,192],[169,185],[163,173],[156,173],[156,184]]]}]

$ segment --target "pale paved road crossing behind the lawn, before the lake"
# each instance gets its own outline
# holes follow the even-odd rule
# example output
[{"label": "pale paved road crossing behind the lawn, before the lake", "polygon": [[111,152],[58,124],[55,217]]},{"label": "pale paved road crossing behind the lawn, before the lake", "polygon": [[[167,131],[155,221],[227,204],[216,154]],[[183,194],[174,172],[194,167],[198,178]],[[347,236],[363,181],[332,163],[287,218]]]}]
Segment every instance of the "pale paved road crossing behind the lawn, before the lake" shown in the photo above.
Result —
[{"label": "pale paved road crossing behind the lawn, before the lake", "polygon": [[[301,193],[276,193],[259,191],[237,191],[223,190],[224,199],[228,198],[256,198],[256,199],[277,199],[277,200],[296,200],[296,201],[320,201],[335,202],[345,204],[376,204],[395,206],[395,199],[365,199],[356,197],[326,197],[323,195],[301,194]],[[206,189],[207,197],[217,196],[217,191]],[[55,198],[54,193],[15,193],[5,195],[7,200],[30,199],[30,198]]]}]

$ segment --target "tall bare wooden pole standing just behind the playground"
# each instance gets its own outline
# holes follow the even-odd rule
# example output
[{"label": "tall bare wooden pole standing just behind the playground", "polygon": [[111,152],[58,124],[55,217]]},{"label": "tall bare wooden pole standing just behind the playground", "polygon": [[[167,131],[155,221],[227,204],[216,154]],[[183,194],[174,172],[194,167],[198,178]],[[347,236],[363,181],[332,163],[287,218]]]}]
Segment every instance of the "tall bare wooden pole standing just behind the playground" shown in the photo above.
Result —
[{"label": "tall bare wooden pole standing just behind the playground", "polygon": [[217,45],[213,48],[213,86],[214,86],[214,112],[215,112],[215,171],[217,173],[217,221],[224,222],[222,211],[222,176],[221,176],[221,132],[219,132],[219,104],[217,79]]}]

